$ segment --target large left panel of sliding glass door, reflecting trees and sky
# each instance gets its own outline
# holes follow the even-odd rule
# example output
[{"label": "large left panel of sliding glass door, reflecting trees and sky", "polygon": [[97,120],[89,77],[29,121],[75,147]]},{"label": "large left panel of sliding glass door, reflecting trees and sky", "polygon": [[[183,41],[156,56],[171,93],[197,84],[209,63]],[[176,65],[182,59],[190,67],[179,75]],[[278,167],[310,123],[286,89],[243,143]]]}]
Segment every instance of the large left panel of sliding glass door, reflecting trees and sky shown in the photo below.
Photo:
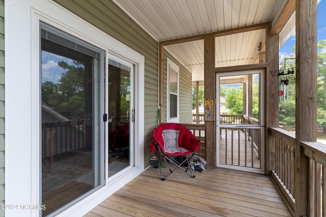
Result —
[{"label": "large left panel of sliding glass door, reflecting trees and sky", "polygon": [[40,25],[42,215],[104,184],[104,51]]}]

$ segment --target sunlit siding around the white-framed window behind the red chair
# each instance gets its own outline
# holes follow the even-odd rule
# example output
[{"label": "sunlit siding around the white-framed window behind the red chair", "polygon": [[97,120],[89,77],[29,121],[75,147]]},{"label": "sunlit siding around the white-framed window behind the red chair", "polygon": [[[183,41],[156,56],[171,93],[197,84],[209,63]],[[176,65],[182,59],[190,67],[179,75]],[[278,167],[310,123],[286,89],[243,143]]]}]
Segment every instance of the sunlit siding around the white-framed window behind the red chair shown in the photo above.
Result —
[{"label": "sunlit siding around the white-framed window behind the red chair", "polygon": [[179,66],[179,122],[192,123],[192,74],[167,50],[164,50],[164,115],[162,121],[167,121],[167,57]]}]

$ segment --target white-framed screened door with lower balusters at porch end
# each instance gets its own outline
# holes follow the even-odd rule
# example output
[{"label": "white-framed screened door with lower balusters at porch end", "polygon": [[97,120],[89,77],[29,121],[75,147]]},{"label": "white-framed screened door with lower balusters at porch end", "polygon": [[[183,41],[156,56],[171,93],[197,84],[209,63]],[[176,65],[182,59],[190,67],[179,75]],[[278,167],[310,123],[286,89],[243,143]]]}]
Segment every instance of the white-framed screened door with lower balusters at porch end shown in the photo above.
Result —
[{"label": "white-framed screened door with lower balusters at porch end", "polygon": [[218,167],[264,172],[264,72],[216,74]]}]

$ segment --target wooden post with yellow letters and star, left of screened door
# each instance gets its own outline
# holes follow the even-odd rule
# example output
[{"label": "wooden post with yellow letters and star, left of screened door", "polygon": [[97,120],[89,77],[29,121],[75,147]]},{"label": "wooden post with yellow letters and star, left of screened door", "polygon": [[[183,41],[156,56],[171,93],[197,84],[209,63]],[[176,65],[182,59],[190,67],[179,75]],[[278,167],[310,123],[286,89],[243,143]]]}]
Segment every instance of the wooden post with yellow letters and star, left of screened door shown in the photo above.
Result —
[{"label": "wooden post with yellow letters and star, left of screened door", "polygon": [[[204,84],[205,99],[216,99],[216,75],[214,69],[215,38],[214,35],[204,37]],[[215,101],[216,102],[216,101]],[[215,105],[214,105],[215,106]],[[204,114],[206,115],[206,114]],[[216,118],[220,118],[220,114],[216,114],[213,121],[205,121],[206,123],[206,161],[209,166],[216,166]],[[206,118],[205,118],[206,119]]]}]

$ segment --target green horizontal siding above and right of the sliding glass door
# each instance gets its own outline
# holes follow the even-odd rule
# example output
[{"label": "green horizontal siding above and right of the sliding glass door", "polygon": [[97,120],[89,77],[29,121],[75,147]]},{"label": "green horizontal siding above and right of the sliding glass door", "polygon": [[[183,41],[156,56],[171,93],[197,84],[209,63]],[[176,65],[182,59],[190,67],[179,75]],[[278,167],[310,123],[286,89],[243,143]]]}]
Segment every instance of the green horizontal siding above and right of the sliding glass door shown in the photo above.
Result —
[{"label": "green horizontal siding above and right of the sliding glass door", "polygon": [[149,144],[157,122],[158,42],[111,0],[54,0],[69,11],[101,29],[106,34],[145,56],[145,167],[148,166]]}]

